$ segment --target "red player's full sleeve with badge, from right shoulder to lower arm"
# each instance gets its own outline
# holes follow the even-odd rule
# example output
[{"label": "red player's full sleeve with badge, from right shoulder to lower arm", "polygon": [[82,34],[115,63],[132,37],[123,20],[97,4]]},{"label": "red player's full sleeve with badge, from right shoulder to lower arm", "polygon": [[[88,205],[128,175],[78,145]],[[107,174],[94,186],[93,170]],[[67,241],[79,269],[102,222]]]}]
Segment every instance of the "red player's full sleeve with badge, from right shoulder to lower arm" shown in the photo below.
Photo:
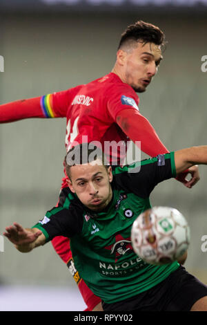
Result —
[{"label": "red player's full sleeve with badge, from right shoulder to lower arm", "polygon": [[139,97],[128,85],[113,86],[107,95],[108,113],[133,142],[148,156],[168,153],[150,122],[139,113]]}]

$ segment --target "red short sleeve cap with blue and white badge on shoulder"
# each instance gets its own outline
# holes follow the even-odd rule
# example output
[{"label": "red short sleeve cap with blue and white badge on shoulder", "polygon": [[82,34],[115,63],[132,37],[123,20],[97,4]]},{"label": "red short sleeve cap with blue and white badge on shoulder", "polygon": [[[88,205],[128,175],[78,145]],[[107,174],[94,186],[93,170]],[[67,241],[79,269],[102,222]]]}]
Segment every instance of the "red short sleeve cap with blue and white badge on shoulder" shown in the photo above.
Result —
[{"label": "red short sleeve cap with blue and white badge on shoulder", "polygon": [[134,108],[139,111],[139,97],[137,94],[128,89],[126,86],[114,86],[110,89],[107,100],[108,113],[114,121],[116,121],[117,114],[123,109]]}]

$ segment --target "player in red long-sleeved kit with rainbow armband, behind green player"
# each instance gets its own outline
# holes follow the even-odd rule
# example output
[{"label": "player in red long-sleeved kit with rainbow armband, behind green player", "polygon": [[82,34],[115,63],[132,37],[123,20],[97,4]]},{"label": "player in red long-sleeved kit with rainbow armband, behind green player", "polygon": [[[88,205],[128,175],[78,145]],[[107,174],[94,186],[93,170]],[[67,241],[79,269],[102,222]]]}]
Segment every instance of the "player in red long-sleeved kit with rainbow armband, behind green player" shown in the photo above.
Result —
[{"label": "player in red long-sleeved kit with rainbow armband, behind green player", "polygon": [[[157,26],[137,21],[121,35],[111,73],[66,91],[3,104],[0,106],[0,122],[24,118],[66,118],[66,150],[77,142],[99,141],[104,149],[106,142],[115,141],[119,143],[119,150],[106,152],[110,163],[121,164],[124,161],[128,139],[140,141],[141,151],[149,156],[166,154],[168,149],[139,112],[137,96],[137,92],[146,91],[157,73],[163,44],[164,33]],[[197,167],[191,168],[189,181],[185,180],[186,174],[180,178],[189,188],[199,180]],[[66,179],[67,176],[63,178],[61,189],[68,186]],[[98,310],[101,300],[79,278],[72,261],[69,239],[56,237],[52,245],[72,271],[88,310]]]}]

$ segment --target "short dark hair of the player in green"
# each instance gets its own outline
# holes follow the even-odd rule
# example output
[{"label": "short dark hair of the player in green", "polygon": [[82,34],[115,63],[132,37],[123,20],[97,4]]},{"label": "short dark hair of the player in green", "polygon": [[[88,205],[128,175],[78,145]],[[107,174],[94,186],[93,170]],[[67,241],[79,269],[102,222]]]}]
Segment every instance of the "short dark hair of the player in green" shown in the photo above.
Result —
[{"label": "short dark hair of the player in green", "polygon": [[92,161],[95,160],[99,160],[101,165],[108,169],[109,163],[105,154],[101,148],[97,147],[93,142],[81,143],[80,145],[72,147],[66,154],[64,160],[67,176],[70,178],[70,167],[92,163]]}]

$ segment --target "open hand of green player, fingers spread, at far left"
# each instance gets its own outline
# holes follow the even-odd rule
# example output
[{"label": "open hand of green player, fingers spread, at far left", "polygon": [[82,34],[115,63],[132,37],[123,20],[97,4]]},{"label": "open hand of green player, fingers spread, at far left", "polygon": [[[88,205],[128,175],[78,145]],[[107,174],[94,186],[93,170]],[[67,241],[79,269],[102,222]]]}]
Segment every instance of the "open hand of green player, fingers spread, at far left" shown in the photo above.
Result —
[{"label": "open hand of green player, fingers spread, at far left", "polygon": [[36,241],[36,239],[42,234],[41,230],[37,232],[31,232],[26,230],[19,223],[14,223],[9,227],[6,227],[6,232],[3,233],[14,245],[28,245]]}]

